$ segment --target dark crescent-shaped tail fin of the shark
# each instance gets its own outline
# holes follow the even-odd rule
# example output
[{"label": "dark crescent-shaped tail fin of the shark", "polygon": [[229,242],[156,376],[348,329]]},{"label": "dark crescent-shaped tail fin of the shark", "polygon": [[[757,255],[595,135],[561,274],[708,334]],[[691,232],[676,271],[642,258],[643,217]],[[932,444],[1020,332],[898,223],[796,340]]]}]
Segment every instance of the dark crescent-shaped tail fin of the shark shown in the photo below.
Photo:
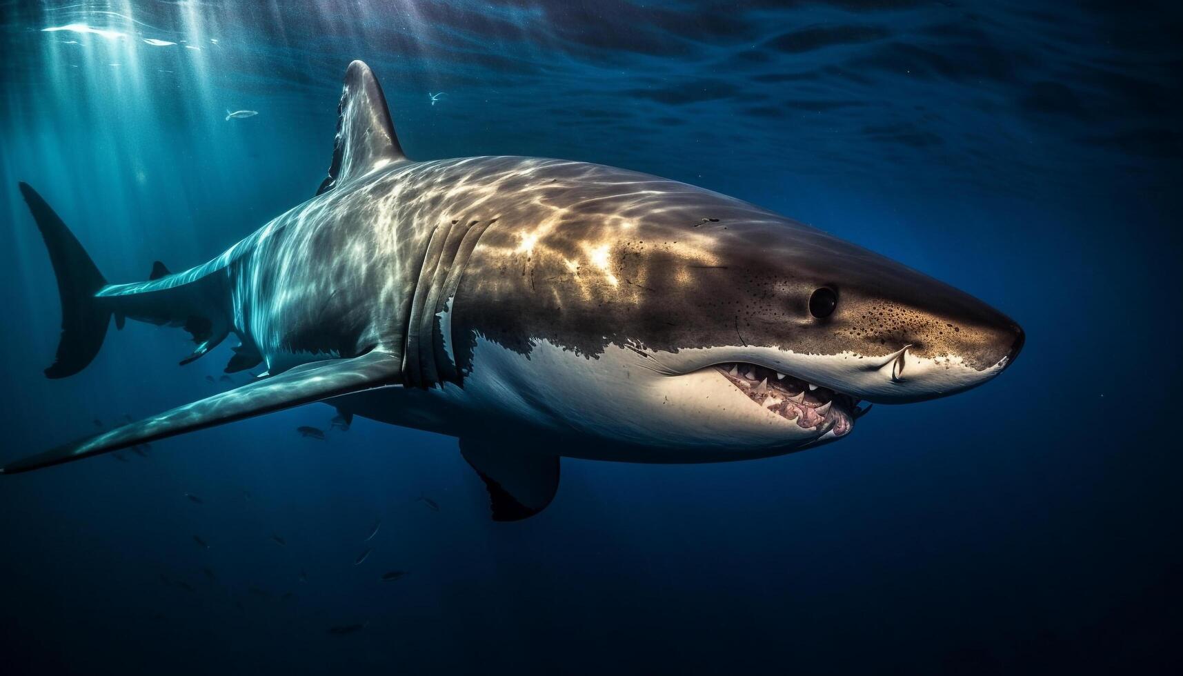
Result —
[{"label": "dark crescent-shaped tail fin of the shark", "polygon": [[106,285],[106,279],[37,191],[28,184],[20,184],[20,194],[25,197],[37,228],[45,239],[62,297],[62,340],[58,342],[57,360],[45,369],[45,375],[65,378],[85,368],[103,347],[111,310],[95,294]]}]

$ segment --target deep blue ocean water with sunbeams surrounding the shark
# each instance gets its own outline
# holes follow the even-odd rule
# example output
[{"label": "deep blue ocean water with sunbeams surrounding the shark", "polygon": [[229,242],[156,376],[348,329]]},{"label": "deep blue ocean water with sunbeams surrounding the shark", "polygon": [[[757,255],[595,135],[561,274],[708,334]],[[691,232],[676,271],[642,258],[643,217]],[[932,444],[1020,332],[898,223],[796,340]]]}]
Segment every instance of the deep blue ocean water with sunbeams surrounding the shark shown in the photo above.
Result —
[{"label": "deep blue ocean water with sunbeams surrounding the shark", "polygon": [[567,459],[515,523],[454,439],[297,433],[324,405],[0,477],[2,672],[1178,667],[1174,4],[7,0],[0,24],[4,462],[243,381],[135,322],[44,378],[58,294],[17,182],[112,282],[200,264],[315,194],[355,58],[412,159],[691,182],[1027,333],[996,380],[817,450]]}]

